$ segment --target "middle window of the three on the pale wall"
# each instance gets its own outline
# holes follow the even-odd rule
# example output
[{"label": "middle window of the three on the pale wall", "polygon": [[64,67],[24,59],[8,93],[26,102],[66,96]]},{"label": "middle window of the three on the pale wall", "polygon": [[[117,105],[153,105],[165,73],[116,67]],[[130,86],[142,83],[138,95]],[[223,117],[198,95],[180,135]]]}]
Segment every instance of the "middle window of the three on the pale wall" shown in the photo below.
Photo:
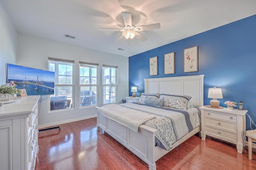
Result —
[{"label": "middle window of the three on the pale wall", "polygon": [[98,65],[79,62],[80,107],[98,105]]}]

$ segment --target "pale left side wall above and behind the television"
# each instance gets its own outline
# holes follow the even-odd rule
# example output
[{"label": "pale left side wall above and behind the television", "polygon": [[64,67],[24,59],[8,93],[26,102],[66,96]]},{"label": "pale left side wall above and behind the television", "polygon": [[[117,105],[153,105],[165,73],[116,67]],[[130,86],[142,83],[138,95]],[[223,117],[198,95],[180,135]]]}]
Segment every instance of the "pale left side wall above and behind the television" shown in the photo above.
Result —
[{"label": "pale left side wall above and behind the television", "polygon": [[6,63],[16,63],[17,31],[0,1],[0,85],[6,83]]}]

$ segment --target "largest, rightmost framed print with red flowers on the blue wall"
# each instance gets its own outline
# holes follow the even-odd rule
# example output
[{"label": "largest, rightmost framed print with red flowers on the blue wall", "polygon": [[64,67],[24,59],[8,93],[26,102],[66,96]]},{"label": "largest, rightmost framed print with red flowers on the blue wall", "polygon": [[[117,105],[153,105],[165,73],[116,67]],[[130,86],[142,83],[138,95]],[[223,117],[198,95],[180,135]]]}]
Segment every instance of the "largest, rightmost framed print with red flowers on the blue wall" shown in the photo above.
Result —
[{"label": "largest, rightmost framed print with red flowers on the blue wall", "polygon": [[184,72],[198,71],[198,46],[184,49]]}]

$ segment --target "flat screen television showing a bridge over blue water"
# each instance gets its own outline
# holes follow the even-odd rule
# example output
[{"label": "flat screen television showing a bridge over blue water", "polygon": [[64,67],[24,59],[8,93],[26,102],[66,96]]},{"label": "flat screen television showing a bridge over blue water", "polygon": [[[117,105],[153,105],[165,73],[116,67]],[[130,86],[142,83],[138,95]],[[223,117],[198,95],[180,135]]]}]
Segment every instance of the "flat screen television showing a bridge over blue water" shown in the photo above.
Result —
[{"label": "flat screen television showing a bridge over blue water", "polygon": [[16,88],[26,89],[27,95],[54,94],[54,72],[7,64],[7,83],[14,81]]}]

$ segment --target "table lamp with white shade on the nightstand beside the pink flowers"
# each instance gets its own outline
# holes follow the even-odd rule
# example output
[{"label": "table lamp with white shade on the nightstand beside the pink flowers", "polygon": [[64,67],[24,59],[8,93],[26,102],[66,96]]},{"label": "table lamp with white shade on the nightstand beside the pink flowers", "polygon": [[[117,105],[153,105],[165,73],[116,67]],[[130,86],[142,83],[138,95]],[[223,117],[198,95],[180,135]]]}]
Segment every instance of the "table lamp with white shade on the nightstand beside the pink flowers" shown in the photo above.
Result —
[{"label": "table lamp with white shade on the nightstand beside the pink flowers", "polygon": [[212,98],[210,101],[211,107],[218,108],[220,106],[220,102],[217,99],[223,98],[221,88],[209,88],[208,98]]}]

